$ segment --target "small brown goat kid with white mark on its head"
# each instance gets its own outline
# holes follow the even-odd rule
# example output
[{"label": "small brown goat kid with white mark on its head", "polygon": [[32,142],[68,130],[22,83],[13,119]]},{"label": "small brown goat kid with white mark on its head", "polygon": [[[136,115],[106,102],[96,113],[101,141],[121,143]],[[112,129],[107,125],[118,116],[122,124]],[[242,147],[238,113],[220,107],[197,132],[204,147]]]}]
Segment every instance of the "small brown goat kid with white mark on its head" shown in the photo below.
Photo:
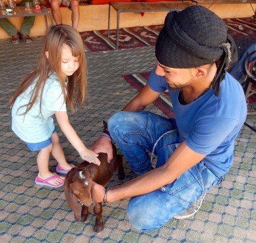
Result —
[{"label": "small brown goat kid with white mark on its head", "polygon": [[[115,146],[113,146],[113,159],[108,163],[106,153],[99,153],[100,165],[83,162],[67,173],[64,183],[64,192],[67,204],[73,210],[75,220],[79,222],[86,221],[88,217],[88,207],[94,205],[94,213],[96,215],[96,223],[94,231],[100,232],[103,229],[102,203],[96,202],[93,195],[93,184],[96,182],[102,186],[106,185],[118,169],[118,178],[123,179],[125,173],[123,171],[123,161],[121,155],[117,155]],[[82,204],[82,209],[77,201]]]}]

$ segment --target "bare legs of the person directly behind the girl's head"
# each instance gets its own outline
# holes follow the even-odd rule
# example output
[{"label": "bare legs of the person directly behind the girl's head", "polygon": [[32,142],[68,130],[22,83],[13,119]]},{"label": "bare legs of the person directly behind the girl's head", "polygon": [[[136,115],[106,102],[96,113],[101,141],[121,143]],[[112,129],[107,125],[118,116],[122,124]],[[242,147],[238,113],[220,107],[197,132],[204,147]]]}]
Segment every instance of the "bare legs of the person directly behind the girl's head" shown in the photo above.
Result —
[{"label": "bare legs of the person directly behind the girl's head", "polygon": [[69,9],[71,9],[71,20],[72,20],[72,27],[77,30],[79,26],[79,0],[49,0],[51,4],[51,12],[56,24],[62,24],[62,16],[61,16],[61,9],[59,8],[60,4],[65,5]]}]

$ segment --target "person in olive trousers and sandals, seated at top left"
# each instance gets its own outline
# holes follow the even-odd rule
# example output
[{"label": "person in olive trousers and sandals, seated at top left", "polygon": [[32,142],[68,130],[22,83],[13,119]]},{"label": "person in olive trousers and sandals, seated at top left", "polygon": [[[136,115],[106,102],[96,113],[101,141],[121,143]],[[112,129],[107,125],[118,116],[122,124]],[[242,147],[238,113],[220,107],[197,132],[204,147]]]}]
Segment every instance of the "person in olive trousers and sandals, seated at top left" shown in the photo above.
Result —
[{"label": "person in olive trousers and sandals, seated at top left", "polygon": [[[15,3],[17,6],[25,5],[25,1],[22,0],[16,0]],[[35,16],[24,17],[19,32],[17,32],[15,26],[8,18],[0,18],[0,27],[5,30],[5,32],[7,32],[9,36],[11,36],[11,42],[13,44],[20,43],[20,39],[23,40],[25,43],[30,43],[32,39],[30,38],[29,34],[31,28],[34,25],[35,18]]]}]

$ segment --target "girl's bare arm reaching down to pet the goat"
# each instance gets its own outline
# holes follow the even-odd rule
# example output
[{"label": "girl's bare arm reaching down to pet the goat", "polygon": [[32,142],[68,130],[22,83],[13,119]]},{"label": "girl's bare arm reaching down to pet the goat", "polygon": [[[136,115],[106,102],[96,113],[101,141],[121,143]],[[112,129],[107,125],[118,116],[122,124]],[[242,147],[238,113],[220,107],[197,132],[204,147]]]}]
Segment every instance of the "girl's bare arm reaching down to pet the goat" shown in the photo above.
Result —
[{"label": "girl's bare arm reaching down to pet the goat", "polygon": [[73,126],[71,126],[69,123],[67,112],[55,111],[55,115],[62,132],[65,134],[72,146],[79,152],[80,157],[89,163],[100,165],[98,154],[84,146],[82,140],[80,140],[79,136],[77,135],[77,132],[75,132]]}]

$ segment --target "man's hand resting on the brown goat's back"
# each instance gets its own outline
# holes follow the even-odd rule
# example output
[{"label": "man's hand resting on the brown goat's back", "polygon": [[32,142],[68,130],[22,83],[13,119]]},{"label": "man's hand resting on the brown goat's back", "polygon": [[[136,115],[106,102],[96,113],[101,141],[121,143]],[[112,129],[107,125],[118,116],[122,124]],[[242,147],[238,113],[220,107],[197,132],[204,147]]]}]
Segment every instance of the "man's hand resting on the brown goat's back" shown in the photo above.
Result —
[{"label": "man's hand resting on the brown goat's back", "polygon": [[108,138],[100,137],[96,140],[91,147],[94,153],[107,153],[108,154],[108,162],[113,159],[113,148],[112,142]]}]

